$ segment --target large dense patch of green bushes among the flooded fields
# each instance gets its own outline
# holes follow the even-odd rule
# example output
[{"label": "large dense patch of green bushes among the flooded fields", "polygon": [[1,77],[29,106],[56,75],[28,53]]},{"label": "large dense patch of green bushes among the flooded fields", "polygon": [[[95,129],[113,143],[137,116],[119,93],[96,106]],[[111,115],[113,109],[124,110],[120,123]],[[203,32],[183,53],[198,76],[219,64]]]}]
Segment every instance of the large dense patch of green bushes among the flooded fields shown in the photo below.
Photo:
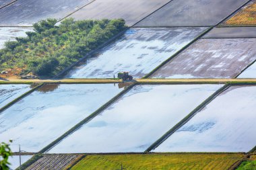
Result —
[{"label": "large dense patch of green bushes among the flooded fields", "polygon": [[56,19],[42,20],[26,38],[6,42],[0,50],[0,71],[20,68],[23,75],[56,75],[126,28],[123,19],[69,18],[56,24]]}]

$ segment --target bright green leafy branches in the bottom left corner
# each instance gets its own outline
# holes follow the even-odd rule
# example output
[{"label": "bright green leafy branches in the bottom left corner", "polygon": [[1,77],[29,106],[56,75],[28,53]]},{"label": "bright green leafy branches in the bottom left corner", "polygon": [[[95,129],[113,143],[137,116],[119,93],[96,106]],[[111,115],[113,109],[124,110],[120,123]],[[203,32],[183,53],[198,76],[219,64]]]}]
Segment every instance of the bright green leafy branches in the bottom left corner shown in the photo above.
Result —
[{"label": "bright green leafy branches in the bottom left corner", "polygon": [[1,142],[0,143],[0,169],[1,170],[9,169],[10,163],[8,162],[8,159],[10,156],[11,156],[11,148],[9,147],[9,144],[5,142]]}]

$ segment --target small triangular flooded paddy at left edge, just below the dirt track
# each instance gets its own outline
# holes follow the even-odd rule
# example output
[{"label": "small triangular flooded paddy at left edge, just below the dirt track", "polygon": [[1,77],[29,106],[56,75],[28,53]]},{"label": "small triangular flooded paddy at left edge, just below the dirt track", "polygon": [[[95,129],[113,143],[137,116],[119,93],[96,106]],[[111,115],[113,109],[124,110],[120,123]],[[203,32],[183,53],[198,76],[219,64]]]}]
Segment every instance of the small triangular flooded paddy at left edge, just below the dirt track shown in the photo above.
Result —
[{"label": "small triangular flooded paddy at left edge, just below the dirt track", "polygon": [[0,85],[0,108],[30,91],[30,89],[30,85]]}]

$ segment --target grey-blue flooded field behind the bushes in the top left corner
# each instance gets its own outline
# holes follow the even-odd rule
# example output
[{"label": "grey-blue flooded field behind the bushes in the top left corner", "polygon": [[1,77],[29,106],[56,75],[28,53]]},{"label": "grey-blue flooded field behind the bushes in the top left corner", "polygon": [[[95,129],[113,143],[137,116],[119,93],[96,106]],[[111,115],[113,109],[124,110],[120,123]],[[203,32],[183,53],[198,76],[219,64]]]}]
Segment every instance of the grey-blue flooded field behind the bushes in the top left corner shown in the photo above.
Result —
[{"label": "grey-blue flooded field behind the bushes in the top left corner", "polygon": [[62,19],[92,0],[19,0],[0,10],[0,26],[32,26],[46,18]]}]

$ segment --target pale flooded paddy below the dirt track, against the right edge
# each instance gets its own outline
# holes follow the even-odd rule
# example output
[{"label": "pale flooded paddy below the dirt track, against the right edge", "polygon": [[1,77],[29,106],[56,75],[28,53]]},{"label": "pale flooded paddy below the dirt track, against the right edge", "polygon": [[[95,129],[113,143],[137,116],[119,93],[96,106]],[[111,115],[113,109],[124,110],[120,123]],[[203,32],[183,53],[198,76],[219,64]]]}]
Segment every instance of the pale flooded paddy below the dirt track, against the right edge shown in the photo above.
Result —
[{"label": "pale flooded paddy below the dirt track, against the right edge", "polygon": [[256,86],[216,97],[154,152],[248,152],[256,144]]}]

